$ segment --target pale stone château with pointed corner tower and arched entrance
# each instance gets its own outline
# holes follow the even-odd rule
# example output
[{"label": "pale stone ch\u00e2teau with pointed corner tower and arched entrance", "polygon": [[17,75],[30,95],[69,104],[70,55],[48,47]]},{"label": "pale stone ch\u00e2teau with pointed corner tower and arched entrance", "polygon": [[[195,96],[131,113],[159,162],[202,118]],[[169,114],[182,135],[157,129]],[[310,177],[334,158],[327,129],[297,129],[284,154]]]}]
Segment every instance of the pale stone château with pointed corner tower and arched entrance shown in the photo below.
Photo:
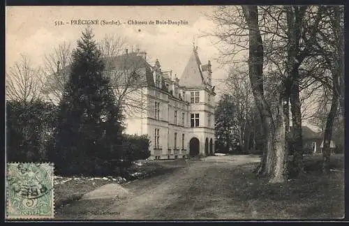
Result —
[{"label": "pale stone ch\u00e2teau with pointed corner tower and arched entrance", "polygon": [[[144,56],[136,52],[130,60],[142,57],[146,62]],[[211,63],[202,65],[195,47],[181,80],[172,71],[162,71],[158,60],[154,66],[144,66],[143,71],[149,71],[142,73],[147,82],[138,89],[138,110],[126,114],[126,133],[147,134],[152,159],[213,154],[216,93],[211,86]]]}]

